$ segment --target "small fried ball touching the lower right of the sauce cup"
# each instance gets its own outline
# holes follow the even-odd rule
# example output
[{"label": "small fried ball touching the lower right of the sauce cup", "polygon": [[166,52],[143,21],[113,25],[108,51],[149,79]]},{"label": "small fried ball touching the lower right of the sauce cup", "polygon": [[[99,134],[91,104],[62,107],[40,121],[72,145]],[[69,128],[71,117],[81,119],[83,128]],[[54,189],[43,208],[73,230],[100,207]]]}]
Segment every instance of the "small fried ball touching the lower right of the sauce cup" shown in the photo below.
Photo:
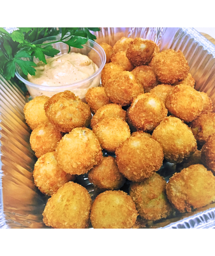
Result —
[{"label": "small fried ball touching the lower right of the sauce cup", "polygon": [[89,88],[85,95],[85,100],[90,106],[93,114],[95,114],[99,108],[110,104],[110,100],[105,93],[105,88],[103,87]]}]

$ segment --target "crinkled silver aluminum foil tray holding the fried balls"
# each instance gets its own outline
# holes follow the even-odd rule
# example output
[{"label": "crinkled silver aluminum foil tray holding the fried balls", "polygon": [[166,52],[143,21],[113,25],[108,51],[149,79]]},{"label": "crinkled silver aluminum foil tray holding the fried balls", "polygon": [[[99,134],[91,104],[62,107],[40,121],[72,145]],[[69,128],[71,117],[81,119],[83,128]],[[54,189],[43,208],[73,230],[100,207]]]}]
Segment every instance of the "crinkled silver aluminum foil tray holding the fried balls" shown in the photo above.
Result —
[{"label": "crinkled silver aluminum foil tray holding the fried balls", "polygon": [[[122,36],[151,39],[164,49],[180,49],[188,60],[189,72],[196,80],[195,89],[211,97],[215,111],[215,45],[192,28],[101,28],[94,33],[97,42],[114,45]],[[36,157],[29,145],[31,130],[26,125],[23,108],[27,99],[15,83],[0,76],[0,228],[47,228],[42,212],[48,200],[34,186]],[[105,153],[104,153],[105,154]],[[168,181],[174,164],[165,163],[159,173]],[[94,199],[98,195],[87,175],[77,182]],[[174,217],[155,221],[149,228],[215,227],[215,203]]]}]

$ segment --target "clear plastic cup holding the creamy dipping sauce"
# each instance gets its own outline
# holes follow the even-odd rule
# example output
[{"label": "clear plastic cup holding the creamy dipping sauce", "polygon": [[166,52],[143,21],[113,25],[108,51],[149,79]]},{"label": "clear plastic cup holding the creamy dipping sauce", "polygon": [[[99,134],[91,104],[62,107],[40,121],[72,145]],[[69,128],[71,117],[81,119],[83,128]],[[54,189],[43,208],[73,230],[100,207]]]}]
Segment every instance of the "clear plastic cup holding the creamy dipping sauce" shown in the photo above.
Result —
[{"label": "clear plastic cup holding the creamy dipping sauce", "polygon": [[[61,38],[61,35],[57,36],[50,36],[44,39],[40,39],[34,44],[45,44],[48,42],[55,42]],[[70,52],[77,52],[80,54],[84,54],[88,56],[94,63],[98,66],[98,70],[91,76],[87,77],[82,81],[78,81],[77,83],[66,84],[64,86],[44,86],[40,84],[34,84],[27,81],[27,76],[23,74],[19,65],[16,66],[15,75],[26,84],[27,90],[29,91],[31,97],[34,99],[36,96],[47,95],[48,97],[52,97],[52,95],[64,92],[65,90],[70,90],[71,92],[75,93],[76,96],[80,97],[80,99],[85,101],[85,93],[91,87],[96,87],[100,84],[101,79],[101,70],[105,66],[106,62],[106,55],[103,48],[94,42],[93,40],[88,40],[86,44],[82,45],[84,48],[78,49],[75,47],[71,47]],[[58,42],[52,44],[52,47],[59,50],[59,54],[61,55],[64,53],[68,53],[69,47],[67,44],[63,42]],[[46,56],[46,58],[51,58]],[[24,58],[24,60],[30,60],[29,58]],[[34,61],[34,63],[38,63],[40,60],[38,58],[31,58],[30,61]]]}]

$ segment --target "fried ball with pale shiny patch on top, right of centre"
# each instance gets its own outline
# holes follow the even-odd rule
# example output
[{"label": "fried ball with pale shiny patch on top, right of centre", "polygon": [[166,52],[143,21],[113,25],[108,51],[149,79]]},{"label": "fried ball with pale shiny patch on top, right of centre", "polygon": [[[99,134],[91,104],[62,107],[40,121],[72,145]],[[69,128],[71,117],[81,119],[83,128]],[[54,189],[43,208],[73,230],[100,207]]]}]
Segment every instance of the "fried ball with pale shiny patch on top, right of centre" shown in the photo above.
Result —
[{"label": "fried ball with pale shiny patch on top, right of centre", "polygon": [[156,95],[144,93],[137,96],[128,109],[128,119],[137,131],[153,131],[167,116],[165,104]]}]

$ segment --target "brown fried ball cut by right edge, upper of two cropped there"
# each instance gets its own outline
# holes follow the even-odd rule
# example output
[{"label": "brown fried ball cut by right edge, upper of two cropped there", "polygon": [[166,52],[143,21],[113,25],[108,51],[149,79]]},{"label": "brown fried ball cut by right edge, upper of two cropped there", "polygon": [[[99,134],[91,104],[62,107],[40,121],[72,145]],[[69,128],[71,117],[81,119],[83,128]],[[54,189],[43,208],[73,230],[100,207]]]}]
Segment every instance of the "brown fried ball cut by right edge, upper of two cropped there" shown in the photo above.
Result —
[{"label": "brown fried ball cut by right edge, upper of two cropped there", "polygon": [[191,127],[196,141],[200,145],[204,145],[209,136],[215,133],[215,113],[208,112],[198,116],[189,124],[189,127]]}]

